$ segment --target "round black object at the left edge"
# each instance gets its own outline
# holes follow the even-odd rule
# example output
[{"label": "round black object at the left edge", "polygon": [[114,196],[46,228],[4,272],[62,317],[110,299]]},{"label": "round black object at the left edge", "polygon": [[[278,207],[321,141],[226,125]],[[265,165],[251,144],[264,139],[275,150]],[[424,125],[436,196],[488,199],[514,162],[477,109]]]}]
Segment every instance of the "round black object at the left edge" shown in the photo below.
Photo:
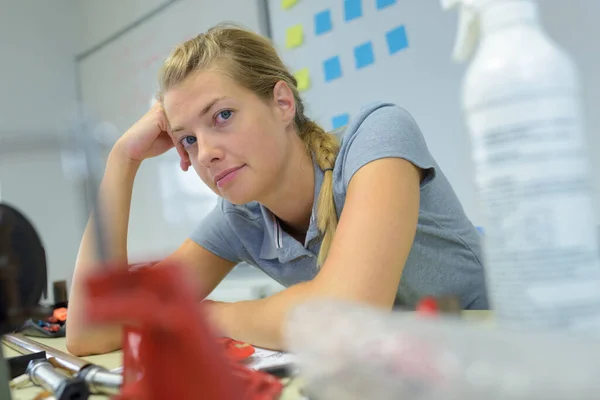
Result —
[{"label": "round black object at the left edge", "polygon": [[33,225],[17,209],[0,203],[0,335],[29,318],[52,314],[47,296],[46,252]]}]

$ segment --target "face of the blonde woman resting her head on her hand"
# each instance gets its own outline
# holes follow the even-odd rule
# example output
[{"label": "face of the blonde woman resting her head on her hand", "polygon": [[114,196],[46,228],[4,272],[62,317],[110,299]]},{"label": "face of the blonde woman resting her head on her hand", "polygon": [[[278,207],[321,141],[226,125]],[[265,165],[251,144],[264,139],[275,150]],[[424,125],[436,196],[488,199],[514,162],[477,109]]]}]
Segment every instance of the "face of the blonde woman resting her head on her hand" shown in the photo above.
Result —
[{"label": "face of the blonde woman resting her head on her hand", "polygon": [[198,72],[164,95],[165,113],[184,164],[234,204],[261,201],[282,178],[293,150],[293,93],[283,82],[273,99],[216,71]]}]

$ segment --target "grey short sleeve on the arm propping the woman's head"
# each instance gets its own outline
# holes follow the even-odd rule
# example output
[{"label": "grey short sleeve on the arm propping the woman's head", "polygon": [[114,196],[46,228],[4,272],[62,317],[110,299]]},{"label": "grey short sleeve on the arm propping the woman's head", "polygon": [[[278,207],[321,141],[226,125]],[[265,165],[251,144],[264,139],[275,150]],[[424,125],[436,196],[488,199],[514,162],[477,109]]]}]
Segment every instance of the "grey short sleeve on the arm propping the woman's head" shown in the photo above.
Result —
[{"label": "grey short sleeve on the arm propping the woman's head", "polygon": [[222,200],[191,233],[190,239],[225,260],[239,263],[242,244],[231,228],[222,208]]}]

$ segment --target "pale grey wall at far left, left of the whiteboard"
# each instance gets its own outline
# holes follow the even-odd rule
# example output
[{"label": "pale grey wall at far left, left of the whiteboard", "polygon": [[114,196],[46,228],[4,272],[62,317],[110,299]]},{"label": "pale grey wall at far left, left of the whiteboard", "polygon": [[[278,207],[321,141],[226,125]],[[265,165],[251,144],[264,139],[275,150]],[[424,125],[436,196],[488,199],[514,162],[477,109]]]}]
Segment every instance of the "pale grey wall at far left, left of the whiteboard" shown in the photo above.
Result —
[{"label": "pale grey wall at far left, left of the whiteboard", "polygon": [[59,147],[77,98],[73,1],[0,0],[2,201],[23,211],[39,231],[50,282],[70,277],[82,230]]}]

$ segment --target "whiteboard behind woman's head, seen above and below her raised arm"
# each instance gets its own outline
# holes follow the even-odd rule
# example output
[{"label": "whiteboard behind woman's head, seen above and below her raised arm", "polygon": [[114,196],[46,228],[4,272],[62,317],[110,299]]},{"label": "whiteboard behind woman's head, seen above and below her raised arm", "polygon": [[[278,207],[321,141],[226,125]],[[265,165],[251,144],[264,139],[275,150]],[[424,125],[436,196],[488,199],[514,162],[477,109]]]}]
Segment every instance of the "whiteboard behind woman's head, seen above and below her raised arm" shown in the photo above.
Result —
[{"label": "whiteboard behind woman's head, seen above and below her raised arm", "polygon": [[[178,0],[79,62],[87,111],[125,132],[150,108],[162,61],[182,41],[221,22],[264,33],[259,0]],[[176,152],[146,160],[136,177],[128,249],[132,260],[175,250],[216,204],[193,170],[178,169]]]}]

